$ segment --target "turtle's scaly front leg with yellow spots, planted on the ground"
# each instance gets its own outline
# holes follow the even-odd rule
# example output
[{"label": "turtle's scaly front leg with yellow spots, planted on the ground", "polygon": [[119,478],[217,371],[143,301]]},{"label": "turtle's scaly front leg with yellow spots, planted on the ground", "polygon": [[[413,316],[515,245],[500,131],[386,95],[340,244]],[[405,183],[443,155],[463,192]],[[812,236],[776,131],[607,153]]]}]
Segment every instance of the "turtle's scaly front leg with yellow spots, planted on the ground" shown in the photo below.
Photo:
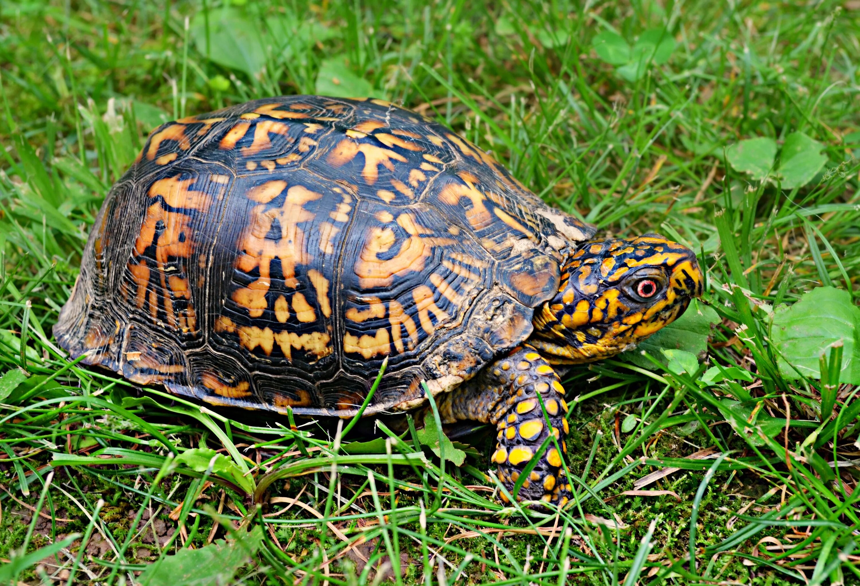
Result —
[{"label": "turtle's scaly front leg with yellow spots, planted on the ground", "polygon": [[[537,395],[540,394],[549,416],[548,429]],[[513,485],[550,433],[558,438],[567,454],[565,439],[568,405],[564,388],[550,363],[533,348],[525,346],[489,364],[470,382],[439,398],[443,423],[472,419],[496,424],[498,443],[492,461],[499,479],[513,495]],[[531,469],[519,489],[517,500],[543,500],[565,504],[571,486],[562,468],[562,454],[550,446]],[[507,502],[507,497],[501,495]]]}]

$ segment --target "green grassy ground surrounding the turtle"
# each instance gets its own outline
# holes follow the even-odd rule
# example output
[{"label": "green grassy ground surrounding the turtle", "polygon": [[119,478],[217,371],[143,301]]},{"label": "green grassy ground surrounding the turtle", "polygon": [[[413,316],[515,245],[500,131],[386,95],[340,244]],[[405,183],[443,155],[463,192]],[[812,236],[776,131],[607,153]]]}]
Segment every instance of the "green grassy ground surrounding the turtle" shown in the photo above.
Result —
[{"label": "green grassy ground surrounding the turtle", "polygon": [[[858,387],[789,380],[771,340],[772,309],[808,290],[860,296],[860,10],[840,4],[0,4],[0,578],[175,583],[186,559],[200,583],[218,565],[218,583],[860,583]],[[652,29],[641,64],[593,46]],[[450,444],[439,458],[393,434],[362,450],[360,425],[237,419],[52,343],[146,132],[318,88],[439,119],[603,233],[701,251],[718,316],[701,367],[613,359],[565,381],[580,397],[565,510],[503,509],[488,439],[463,467]],[[741,139],[793,132],[823,145],[808,185],[729,161]],[[714,366],[726,380],[706,385]],[[223,564],[194,558],[213,547]]]}]

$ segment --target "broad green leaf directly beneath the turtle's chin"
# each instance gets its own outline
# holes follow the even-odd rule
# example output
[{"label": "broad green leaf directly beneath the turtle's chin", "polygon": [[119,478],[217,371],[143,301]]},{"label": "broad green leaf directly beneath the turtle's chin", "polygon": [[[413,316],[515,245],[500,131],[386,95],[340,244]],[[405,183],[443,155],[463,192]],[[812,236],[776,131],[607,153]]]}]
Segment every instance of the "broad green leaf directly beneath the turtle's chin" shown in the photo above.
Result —
[{"label": "broad green leaf directly beneath the turtle's chin", "polygon": [[647,351],[664,364],[669,363],[668,357],[663,354],[664,349],[683,350],[698,356],[708,349],[710,326],[719,320],[720,316],[713,308],[694,299],[679,319],[642,342],[635,350],[623,352],[619,357],[643,369],[653,370],[654,363],[642,356],[642,351]]}]

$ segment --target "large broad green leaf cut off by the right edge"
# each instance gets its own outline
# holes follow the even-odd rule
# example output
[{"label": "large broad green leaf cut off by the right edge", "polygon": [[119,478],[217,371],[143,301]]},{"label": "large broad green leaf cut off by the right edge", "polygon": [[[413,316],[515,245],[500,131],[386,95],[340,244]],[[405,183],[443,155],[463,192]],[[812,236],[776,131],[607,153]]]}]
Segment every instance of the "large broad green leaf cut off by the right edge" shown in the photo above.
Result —
[{"label": "large broad green leaf cut off by the right edge", "polygon": [[799,378],[789,363],[820,378],[819,357],[837,340],[845,345],[839,381],[860,384],[860,308],[848,291],[816,287],[791,307],[774,311],[771,342],[782,354],[779,371],[787,379]]}]

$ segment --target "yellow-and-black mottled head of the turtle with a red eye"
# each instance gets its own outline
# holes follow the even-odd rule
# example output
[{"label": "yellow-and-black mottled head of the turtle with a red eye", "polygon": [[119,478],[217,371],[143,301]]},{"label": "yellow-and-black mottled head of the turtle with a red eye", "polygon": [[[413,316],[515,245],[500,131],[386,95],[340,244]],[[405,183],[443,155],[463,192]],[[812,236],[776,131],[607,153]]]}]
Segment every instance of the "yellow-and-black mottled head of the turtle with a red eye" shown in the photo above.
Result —
[{"label": "yellow-and-black mottled head of the turtle with a red eye", "polygon": [[537,308],[529,344],[560,363],[611,357],[672,323],[702,289],[696,254],[663,236],[583,242]]}]

